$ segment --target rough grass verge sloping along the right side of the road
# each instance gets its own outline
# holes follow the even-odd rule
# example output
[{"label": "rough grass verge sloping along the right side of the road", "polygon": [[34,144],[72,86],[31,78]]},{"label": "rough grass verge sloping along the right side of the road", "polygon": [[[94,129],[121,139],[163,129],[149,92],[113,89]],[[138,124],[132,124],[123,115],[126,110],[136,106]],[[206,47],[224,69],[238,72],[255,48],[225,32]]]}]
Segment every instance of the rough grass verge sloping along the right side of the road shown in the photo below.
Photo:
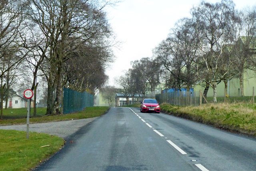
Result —
[{"label": "rough grass verge sloping along the right side of the road", "polygon": [[161,111],[237,133],[256,136],[256,105],[212,103],[201,106],[160,105]]}]

